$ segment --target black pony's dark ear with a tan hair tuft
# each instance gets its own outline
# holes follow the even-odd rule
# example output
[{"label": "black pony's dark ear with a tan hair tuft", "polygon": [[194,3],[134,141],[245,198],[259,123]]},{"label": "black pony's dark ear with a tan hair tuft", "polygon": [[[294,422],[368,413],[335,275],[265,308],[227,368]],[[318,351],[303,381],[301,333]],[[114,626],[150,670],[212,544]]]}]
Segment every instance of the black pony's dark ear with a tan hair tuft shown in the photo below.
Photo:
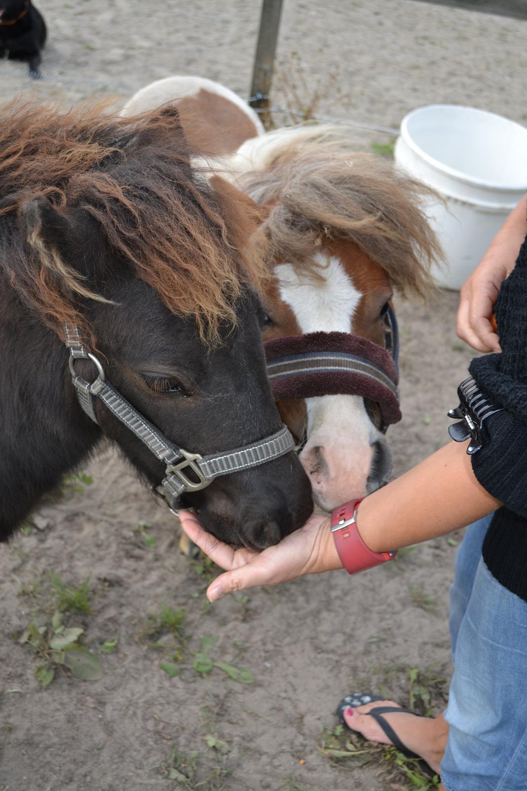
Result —
[{"label": "black pony's dark ear with a tan hair tuft", "polygon": [[66,290],[106,301],[88,287],[88,234],[72,212],[54,206],[45,195],[33,195],[19,206],[18,219],[25,239],[47,274]]}]

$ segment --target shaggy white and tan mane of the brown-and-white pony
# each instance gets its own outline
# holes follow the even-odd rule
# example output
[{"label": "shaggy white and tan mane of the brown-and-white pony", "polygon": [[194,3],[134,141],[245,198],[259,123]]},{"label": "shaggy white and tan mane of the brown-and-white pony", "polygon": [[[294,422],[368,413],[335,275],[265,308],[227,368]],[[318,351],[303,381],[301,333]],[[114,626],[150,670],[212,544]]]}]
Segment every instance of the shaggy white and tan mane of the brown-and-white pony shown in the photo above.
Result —
[{"label": "shaggy white and tan mane of the brown-and-white pony", "polygon": [[254,201],[273,206],[263,229],[277,260],[313,267],[325,239],[349,241],[399,293],[426,296],[431,263],[442,261],[423,212],[435,193],[384,157],[353,148],[343,127],[292,127],[247,140],[224,165]]}]

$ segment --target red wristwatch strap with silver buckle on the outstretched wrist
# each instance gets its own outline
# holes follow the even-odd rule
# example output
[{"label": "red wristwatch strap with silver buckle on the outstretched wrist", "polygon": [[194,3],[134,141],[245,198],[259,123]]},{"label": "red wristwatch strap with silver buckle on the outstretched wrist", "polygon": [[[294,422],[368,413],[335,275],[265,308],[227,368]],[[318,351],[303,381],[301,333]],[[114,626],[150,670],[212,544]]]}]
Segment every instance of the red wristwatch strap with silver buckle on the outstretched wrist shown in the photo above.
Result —
[{"label": "red wristwatch strap with silver buckle on the outstretched wrist", "polygon": [[356,515],[359,504],[364,498],[351,500],[339,505],[331,514],[331,532],[342,565],[348,574],[372,569],[381,563],[393,560],[397,550],[392,552],[372,552],[359,536]]}]

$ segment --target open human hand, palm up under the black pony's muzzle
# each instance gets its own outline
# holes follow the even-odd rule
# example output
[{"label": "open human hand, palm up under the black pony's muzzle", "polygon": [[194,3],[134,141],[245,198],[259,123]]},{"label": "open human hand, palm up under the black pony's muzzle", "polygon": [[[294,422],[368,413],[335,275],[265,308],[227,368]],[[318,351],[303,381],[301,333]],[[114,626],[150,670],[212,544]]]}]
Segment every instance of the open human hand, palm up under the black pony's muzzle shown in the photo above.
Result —
[{"label": "open human hand, palm up under the black pony's muzzle", "polygon": [[254,552],[245,547],[232,549],[205,532],[198,517],[190,511],[181,511],[179,519],[190,540],[213,562],[227,570],[209,585],[209,601],[216,601],[225,593],[252,588],[254,585],[277,585],[278,582],[288,582],[304,574],[342,568],[329,530],[329,517],[322,514],[312,514],[302,528],[263,552]]}]

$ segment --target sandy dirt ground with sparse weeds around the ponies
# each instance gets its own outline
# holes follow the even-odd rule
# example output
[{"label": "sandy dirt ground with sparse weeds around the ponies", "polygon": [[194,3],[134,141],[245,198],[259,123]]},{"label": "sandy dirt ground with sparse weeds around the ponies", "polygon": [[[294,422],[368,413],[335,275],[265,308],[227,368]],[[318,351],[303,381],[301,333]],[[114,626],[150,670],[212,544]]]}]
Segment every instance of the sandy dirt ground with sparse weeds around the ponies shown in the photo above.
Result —
[{"label": "sandy dirt ground with sparse weeds around the ponies", "polygon": [[[40,9],[50,31],[44,79],[32,83],[24,65],[0,62],[0,100],[33,92],[122,102],[177,72],[248,95],[255,0],[43,0]],[[527,23],[408,0],[285,0],[273,99],[287,102],[292,84],[297,93],[319,85],[319,112],[382,126],[436,102],[525,122],[526,40]],[[366,135],[363,144],[372,139],[389,138]],[[446,441],[445,413],[471,357],[455,336],[456,305],[454,293],[427,308],[397,305],[404,418],[389,434],[397,474]],[[208,607],[208,570],[179,554],[177,521],[126,464],[103,448],[85,472],[91,485],[70,485],[42,506],[47,527],[0,550],[2,791],[409,787],[375,756],[339,763],[318,745],[343,694],[386,691],[408,703],[417,671],[413,691],[426,702],[429,687],[440,710],[445,686],[431,678],[450,675],[448,586],[460,536],[359,577],[331,573]],[[56,577],[71,587],[89,579],[89,603],[77,596],[65,623],[84,628],[103,676],[81,681],[57,668],[41,689],[40,660],[20,636],[29,624],[49,625]],[[172,678],[160,662],[175,653]],[[198,653],[247,668],[254,683],[218,664],[199,673]]]}]

